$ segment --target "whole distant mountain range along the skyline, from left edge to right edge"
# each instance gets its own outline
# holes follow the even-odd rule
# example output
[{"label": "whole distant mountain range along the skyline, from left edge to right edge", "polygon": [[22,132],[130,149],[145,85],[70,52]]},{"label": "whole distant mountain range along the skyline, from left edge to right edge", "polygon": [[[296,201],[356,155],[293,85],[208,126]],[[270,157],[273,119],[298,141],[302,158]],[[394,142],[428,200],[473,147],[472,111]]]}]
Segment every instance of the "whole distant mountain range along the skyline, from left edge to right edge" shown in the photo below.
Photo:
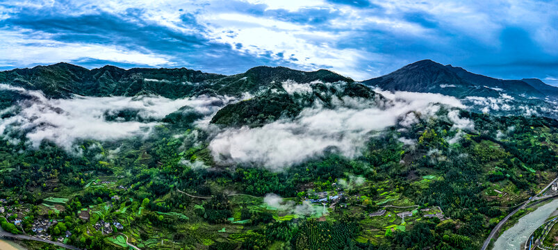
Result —
[{"label": "whole distant mountain range along the skyline, from left edge to right edge", "polygon": [[[270,88],[281,89],[281,83],[287,80],[297,83],[356,83],[351,78],[325,69],[302,72],[265,66],[231,76],[186,68],[122,69],[107,65],[86,69],[68,63],[0,72],[0,83],[41,90],[47,97],[56,98],[72,94],[95,97],[158,94],[171,99],[199,94],[238,97]],[[523,113],[555,117],[555,101],[558,100],[558,88],[539,79],[502,80],[432,60],[420,60],[360,83],[389,91],[444,94],[461,99],[477,112],[500,115]],[[285,105],[281,107],[286,108]]]}]

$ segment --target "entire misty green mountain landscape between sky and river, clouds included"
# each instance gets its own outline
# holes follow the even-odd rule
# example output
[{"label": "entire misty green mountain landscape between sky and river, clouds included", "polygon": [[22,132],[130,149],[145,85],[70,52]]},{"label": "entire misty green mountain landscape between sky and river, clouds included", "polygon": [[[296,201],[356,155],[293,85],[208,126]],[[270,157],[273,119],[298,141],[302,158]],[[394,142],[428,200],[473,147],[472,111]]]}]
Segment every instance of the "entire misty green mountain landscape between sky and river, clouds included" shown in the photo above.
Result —
[{"label": "entire misty green mountain landscape between sky and river, clouds included", "polygon": [[553,90],[430,60],[362,83],[0,72],[1,226],[80,249],[479,249],[557,176]]}]

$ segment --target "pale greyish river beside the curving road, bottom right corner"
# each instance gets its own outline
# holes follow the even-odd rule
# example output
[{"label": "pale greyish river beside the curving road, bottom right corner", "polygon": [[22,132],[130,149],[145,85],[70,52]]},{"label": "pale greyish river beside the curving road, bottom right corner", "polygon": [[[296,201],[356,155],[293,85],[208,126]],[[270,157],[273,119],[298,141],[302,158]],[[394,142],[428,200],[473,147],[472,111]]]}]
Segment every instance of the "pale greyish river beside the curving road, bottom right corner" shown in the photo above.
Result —
[{"label": "pale greyish river beside the curving road, bottom right corner", "polygon": [[521,217],[519,221],[504,231],[498,240],[494,243],[493,250],[513,250],[520,249],[523,242],[527,241],[527,237],[541,226],[552,213],[558,208],[558,199],[554,199],[549,203],[536,208],[536,210]]}]

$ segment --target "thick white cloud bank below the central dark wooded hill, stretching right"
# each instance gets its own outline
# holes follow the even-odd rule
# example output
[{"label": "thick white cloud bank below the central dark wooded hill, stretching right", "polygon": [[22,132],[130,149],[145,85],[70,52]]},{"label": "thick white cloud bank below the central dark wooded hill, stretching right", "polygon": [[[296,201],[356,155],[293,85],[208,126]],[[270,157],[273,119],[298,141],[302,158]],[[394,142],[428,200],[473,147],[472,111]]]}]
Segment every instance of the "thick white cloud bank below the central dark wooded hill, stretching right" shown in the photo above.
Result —
[{"label": "thick white cloud bank below the central dark wooded hill, stretching right", "polygon": [[[224,129],[215,135],[209,147],[215,160],[221,163],[256,164],[280,170],[321,156],[326,150],[349,158],[358,156],[375,131],[394,126],[412,110],[420,110],[425,115],[432,112],[429,110],[437,110],[432,102],[465,108],[459,100],[442,94],[377,92],[393,103],[378,107],[362,100],[352,101],[347,107],[340,100],[333,109],[313,106],[302,110],[293,120],[281,119],[259,128]],[[362,104],[354,106],[354,103]]]}]

